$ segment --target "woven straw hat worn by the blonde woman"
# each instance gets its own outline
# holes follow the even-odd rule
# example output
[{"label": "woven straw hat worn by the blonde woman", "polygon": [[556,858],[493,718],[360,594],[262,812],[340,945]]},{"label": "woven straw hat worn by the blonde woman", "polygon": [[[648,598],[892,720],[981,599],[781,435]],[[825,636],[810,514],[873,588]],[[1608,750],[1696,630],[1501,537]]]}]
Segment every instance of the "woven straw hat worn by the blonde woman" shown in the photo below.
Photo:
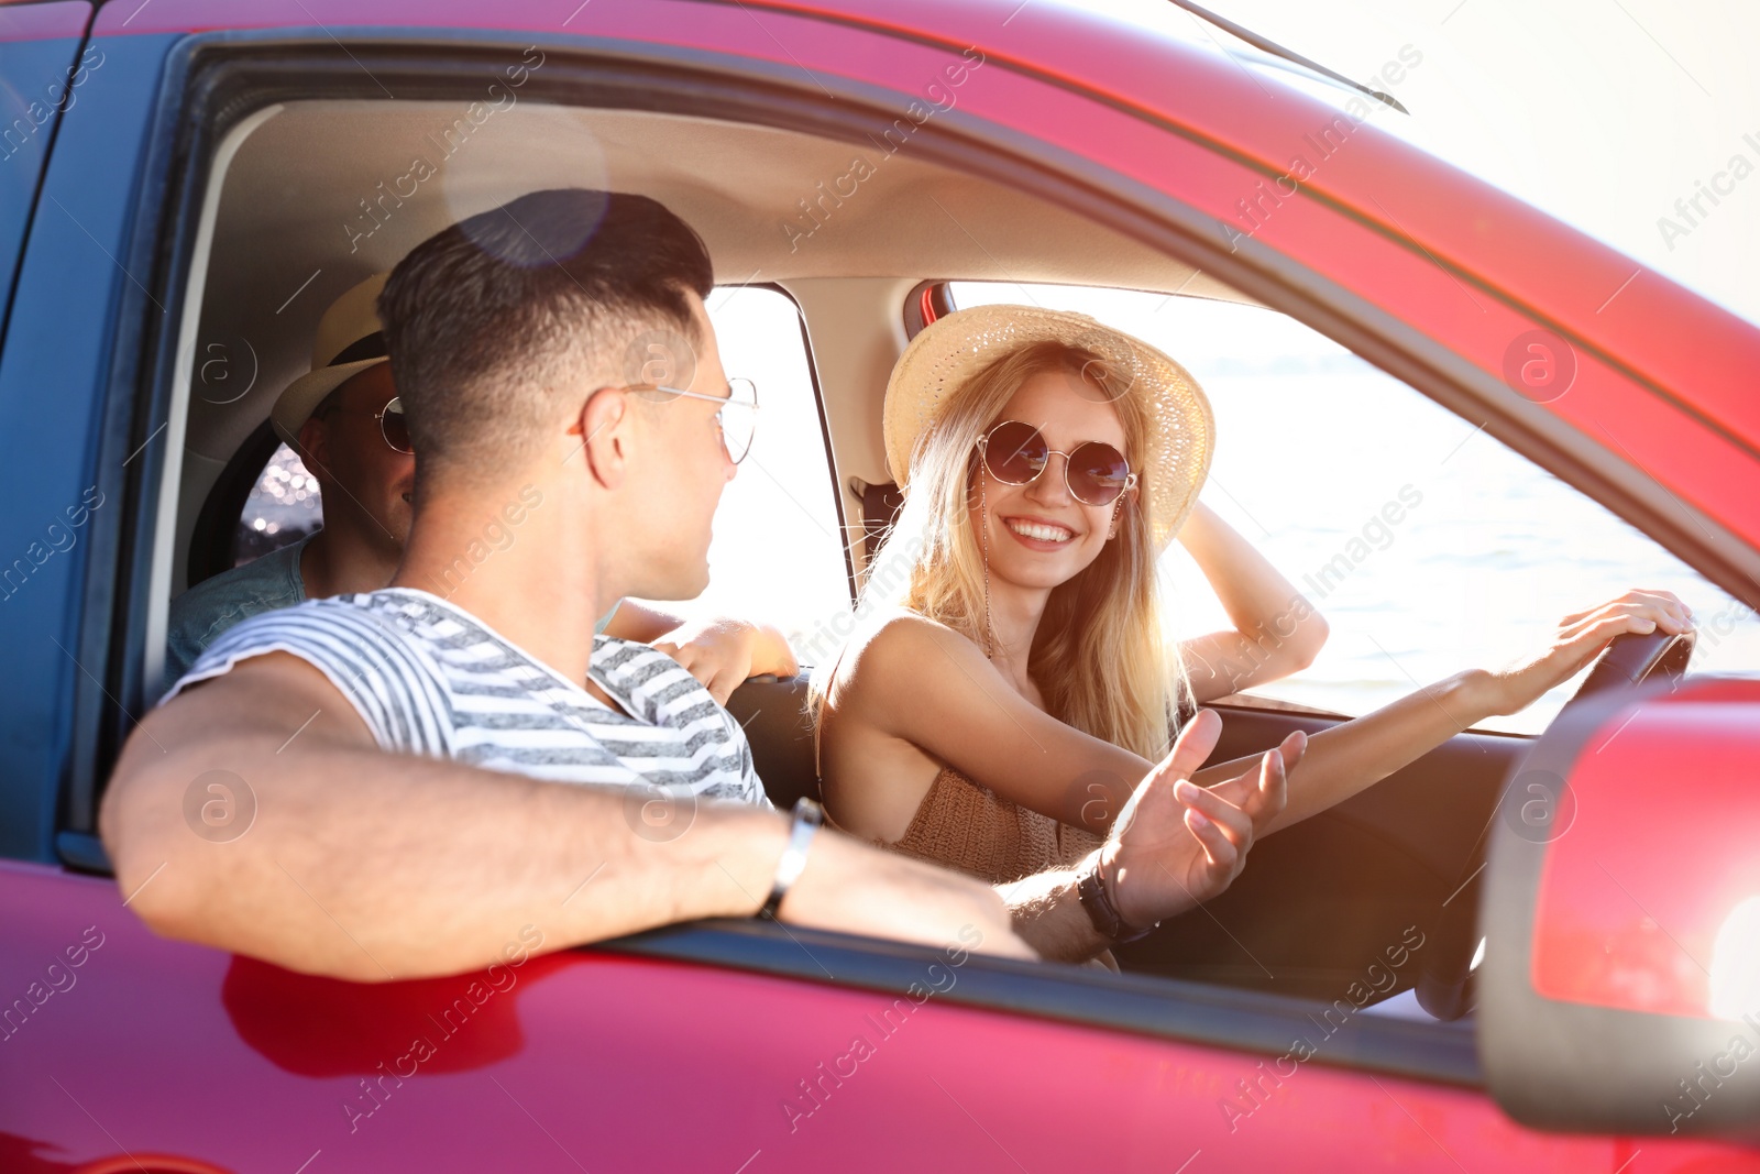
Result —
[{"label": "woven straw hat worn by the blonde woman", "polygon": [[973,306],[936,319],[917,333],[885,387],[885,459],[892,481],[910,479],[917,440],[942,401],[1003,354],[1038,341],[1093,350],[1149,408],[1139,475],[1155,549],[1165,547],[1199,500],[1216,451],[1216,421],[1199,382],[1155,347],[1086,313],[1037,306]]}]

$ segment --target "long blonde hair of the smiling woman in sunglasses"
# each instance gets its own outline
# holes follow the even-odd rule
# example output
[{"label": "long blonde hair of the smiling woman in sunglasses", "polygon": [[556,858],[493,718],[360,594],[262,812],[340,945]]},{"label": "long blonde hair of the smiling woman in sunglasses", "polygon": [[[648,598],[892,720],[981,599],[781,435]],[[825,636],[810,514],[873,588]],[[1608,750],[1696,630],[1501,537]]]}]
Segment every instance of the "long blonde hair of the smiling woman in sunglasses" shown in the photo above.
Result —
[{"label": "long blonde hair of the smiling woman in sunglasses", "polygon": [[[1037,341],[984,366],[949,393],[912,452],[905,505],[869,572],[920,547],[889,602],[984,646],[984,553],[972,532],[982,463],[977,442],[1031,377],[1063,371],[1109,401],[1125,429],[1125,458],[1144,466],[1148,405],[1105,361],[1082,347]],[[1140,473],[1139,473],[1140,475]],[[1179,651],[1165,637],[1156,590],[1156,551],[1142,509],[1144,486],[1119,498],[1118,537],[1058,584],[1038,621],[1028,672],[1051,716],[1155,760],[1167,753],[1177,702],[1190,695]],[[869,586],[878,586],[869,577]],[[868,590],[862,605],[868,607]]]}]

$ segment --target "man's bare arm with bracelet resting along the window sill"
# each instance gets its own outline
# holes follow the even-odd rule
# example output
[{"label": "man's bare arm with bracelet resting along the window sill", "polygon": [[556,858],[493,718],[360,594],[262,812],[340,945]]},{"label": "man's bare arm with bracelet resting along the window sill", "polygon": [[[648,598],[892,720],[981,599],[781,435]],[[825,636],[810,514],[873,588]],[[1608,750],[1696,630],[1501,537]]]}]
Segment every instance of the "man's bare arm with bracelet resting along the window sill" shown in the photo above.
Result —
[{"label": "man's bare arm with bracelet resting along the window sill", "polygon": [[[224,843],[185,822],[211,771],[255,806]],[[148,715],[99,818],[118,887],[155,931],[368,982],[488,966],[523,926],[561,949],[750,915],[788,834],[783,815],[720,803],[667,843],[635,824],[607,789],[380,752],[343,693],[287,653]],[[986,885],[827,831],[781,917],[929,945],[975,926],[984,949],[1030,956]]]}]

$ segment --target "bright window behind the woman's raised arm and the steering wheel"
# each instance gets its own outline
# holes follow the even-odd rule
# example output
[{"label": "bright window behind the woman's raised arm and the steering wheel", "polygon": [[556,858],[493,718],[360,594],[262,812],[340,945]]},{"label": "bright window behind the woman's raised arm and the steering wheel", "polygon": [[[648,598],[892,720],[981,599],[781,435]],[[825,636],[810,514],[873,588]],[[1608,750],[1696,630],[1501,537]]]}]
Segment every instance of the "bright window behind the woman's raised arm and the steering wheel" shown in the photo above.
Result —
[{"label": "bright window behind the woman's raised arm and the steering wheel", "polygon": [[[1461,669],[1540,653],[1561,616],[1626,588],[1695,611],[1695,672],[1760,669],[1760,623],[1616,514],[1301,322],[1139,290],[954,282],[957,306],[1089,313],[1177,359],[1216,414],[1202,491],[1331,627],[1306,671],[1250,690],[1346,715]],[[1162,560],[1176,635],[1228,627],[1176,542]],[[1480,729],[1538,732],[1554,688]]]}]

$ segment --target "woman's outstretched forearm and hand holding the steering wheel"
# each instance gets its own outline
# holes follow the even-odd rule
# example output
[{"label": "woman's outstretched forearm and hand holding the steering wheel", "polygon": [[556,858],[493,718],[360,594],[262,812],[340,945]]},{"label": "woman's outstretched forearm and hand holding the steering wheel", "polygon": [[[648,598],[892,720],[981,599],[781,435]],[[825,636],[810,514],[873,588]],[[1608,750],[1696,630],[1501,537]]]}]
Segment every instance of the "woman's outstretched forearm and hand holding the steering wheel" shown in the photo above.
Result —
[{"label": "woman's outstretched forearm and hand holding the steering wheel", "polygon": [[[1308,739],[1308,753],[1290,771],[1288,804],[1265,833],[1288,827],[1352,797],[1489,716],[1519,713],[1554,685],[1568,681],[1610,639],[1624,632],[1686,632],[1691,609],[1668,591],[1626,591],[1619,598],[1559,620],[1551,648],[1501,672],[1470,669],[1401,697]],[[1206,767],[1200,787],[1232,780],[1250,759]],[[1234,799],[1230,799],[1234,801]]]}]

